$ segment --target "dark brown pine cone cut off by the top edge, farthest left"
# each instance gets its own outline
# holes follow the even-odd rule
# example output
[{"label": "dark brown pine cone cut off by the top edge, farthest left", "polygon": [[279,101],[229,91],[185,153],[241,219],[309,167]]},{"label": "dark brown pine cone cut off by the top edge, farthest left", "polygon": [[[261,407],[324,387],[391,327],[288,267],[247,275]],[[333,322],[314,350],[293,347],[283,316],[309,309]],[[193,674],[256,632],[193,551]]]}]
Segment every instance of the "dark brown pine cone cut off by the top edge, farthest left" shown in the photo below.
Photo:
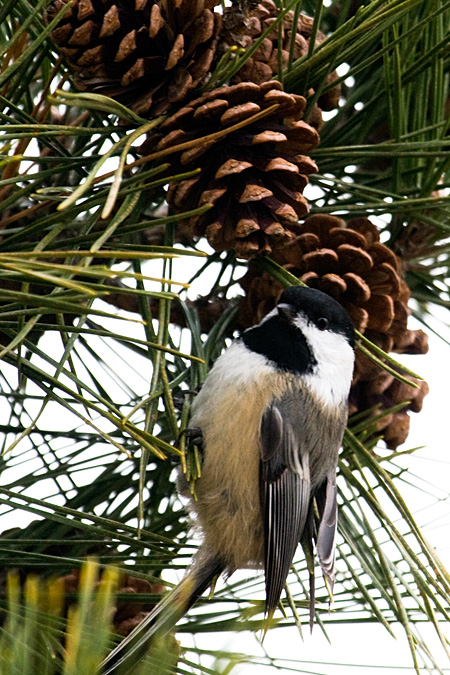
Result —
[{"label": "dark brown pine cone cut off by the top edge, farthest left", "polygon": [[[53,0],[49,23],[68,0]],[[216,0],[73,0],[51,38],[82,91],[139,115],[160,115],[209,72],[221,16]]]}]

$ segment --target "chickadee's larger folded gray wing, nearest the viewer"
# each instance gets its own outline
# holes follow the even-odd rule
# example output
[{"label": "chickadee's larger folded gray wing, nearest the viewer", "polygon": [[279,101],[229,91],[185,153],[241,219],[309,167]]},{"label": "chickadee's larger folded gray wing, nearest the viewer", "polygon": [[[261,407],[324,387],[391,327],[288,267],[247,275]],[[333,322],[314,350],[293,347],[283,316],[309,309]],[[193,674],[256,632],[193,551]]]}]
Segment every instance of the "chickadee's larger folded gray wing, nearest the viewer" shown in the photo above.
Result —
[{"label": "chickadee's larger folded gray wing, nearest the viewer", "polygon": [[266,409],[261,421],[260,489],[269,616],[286,584],[310,506],[309,456],[301,447],[300,417],[298,402],[294,406],[292,400],[283,398]]}]

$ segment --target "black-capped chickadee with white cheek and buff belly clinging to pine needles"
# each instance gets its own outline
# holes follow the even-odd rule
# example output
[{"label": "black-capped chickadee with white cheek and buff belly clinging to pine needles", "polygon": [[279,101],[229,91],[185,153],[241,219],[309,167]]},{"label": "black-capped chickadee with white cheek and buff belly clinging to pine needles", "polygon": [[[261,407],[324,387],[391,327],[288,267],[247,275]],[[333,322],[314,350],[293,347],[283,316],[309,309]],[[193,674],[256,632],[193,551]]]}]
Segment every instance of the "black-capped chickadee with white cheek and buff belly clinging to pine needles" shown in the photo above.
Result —
[{"label": "black-capped chickadee with white cheek and buff belly clinging to pine needles", "polygon": [[202,543],[180,584],[106,659],[104,675],[171,630],[222,573],[263,569],[271,618],[300,541],[312,553],[315,540],[332,592],[354,342],[337,300],[296,285],[219,356],[191,409],[189,433],[202,455],[195,498],[183,474],[178,479]]}]

